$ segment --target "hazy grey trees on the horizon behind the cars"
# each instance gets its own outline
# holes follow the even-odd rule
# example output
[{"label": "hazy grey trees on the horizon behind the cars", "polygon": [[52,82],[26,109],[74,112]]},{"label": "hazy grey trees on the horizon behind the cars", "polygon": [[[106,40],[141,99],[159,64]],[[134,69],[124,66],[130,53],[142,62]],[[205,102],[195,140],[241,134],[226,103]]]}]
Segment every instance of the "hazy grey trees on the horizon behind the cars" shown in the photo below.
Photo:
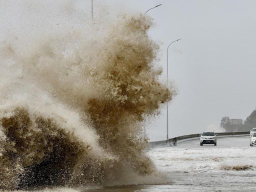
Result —
[{"label": "hazy grey trees on the horizon behind the cars", "polygon": [[243,124],[232,124],[230,122],[231,119],[228,116],[224,116],[221,118],[220,127],[224,128],[226,132],[251,130],[251,128],[256,127],[256,110],[251,112]]}]

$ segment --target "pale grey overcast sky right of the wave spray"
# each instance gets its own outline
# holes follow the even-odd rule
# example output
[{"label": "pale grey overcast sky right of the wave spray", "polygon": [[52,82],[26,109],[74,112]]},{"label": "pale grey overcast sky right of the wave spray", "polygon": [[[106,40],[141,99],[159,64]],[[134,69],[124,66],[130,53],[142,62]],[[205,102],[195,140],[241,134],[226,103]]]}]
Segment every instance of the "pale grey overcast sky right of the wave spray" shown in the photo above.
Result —
[{"label": "pale grey overcast sky right of the wave spray", "polygon": [[[222,116],[245,119],[256,106],[256,1],[107,0],[123,12],[144,12],[160,3],[147,14],[156,23],[151,37],[162,43],[163,79],[166,47],[182,38],[168,54],[169,80],[179,92],[169,104],[169,137],[219,131]],[[165,139],[165,110],[151,123],[150,139]]]}]

